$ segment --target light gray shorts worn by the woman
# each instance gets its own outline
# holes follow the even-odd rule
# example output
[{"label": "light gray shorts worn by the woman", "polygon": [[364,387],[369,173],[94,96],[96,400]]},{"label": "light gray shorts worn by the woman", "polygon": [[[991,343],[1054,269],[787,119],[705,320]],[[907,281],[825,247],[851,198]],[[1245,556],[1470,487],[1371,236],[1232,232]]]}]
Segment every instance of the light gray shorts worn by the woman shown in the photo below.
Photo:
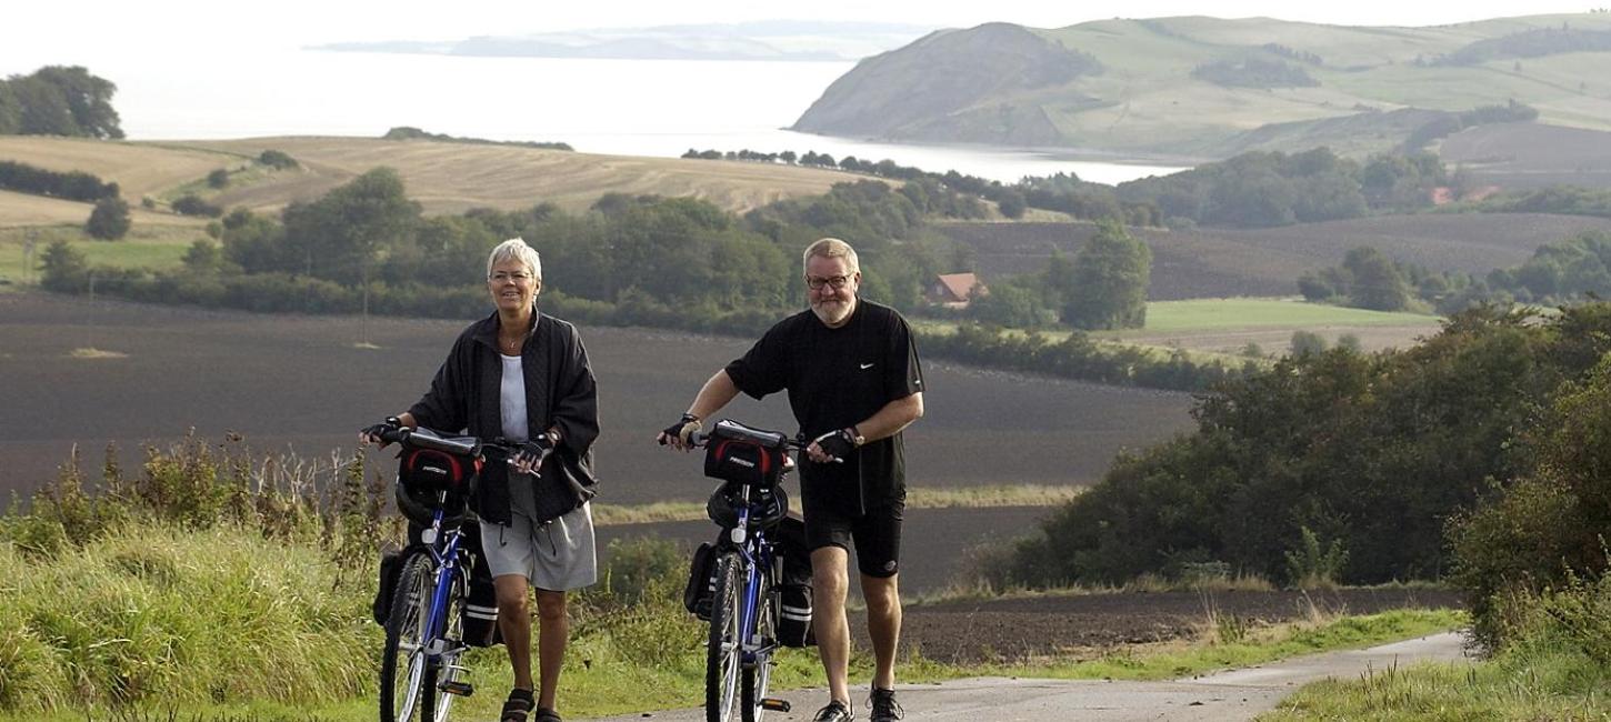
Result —
[{"label": "light gray shorts worn by the woman", "polygon": [[577,590],[598,582],[593,504],[582,504],[536,529],[520,514],[511,521],[507,527],[482,522],[482,548],[493,577],[519,574],[546,591]]}]

